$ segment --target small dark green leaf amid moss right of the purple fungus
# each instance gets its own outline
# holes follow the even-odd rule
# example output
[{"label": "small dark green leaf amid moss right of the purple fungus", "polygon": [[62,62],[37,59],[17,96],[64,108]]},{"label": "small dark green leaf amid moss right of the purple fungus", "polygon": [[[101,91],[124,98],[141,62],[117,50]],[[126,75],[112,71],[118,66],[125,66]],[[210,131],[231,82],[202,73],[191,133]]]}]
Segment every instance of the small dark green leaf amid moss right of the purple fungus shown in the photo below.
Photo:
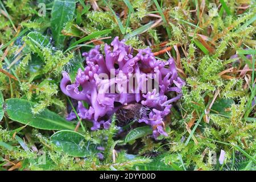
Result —
[{"label": "small dark green leaf amid moss right of the purple fungus", "polygon": [[232,104],[234,104],[234,100],[232,99],[221,98],[219,100],[216,100],[212,105],[212,113],[215,113],[214,111],[217,111],[218,114],[229,115],[230,112],[225,110],[231,107]]}]

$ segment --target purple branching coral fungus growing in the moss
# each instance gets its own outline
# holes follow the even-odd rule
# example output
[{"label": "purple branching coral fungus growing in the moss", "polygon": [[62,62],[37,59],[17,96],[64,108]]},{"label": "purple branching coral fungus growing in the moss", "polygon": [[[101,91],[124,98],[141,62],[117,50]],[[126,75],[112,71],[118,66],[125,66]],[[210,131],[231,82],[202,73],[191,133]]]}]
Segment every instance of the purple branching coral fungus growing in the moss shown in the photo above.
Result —
[{"label": "purple branching coral fungus growing in the moss", "polygon": [[[150,125],[154,138],[159,134],[167,136],[164,117],[170,113],[172,102],[180,99],[184,85],[172,57],[168,61],[157,60],[150,48],[134,53],[134,49],[118,37],[111,46],[105,45],[104,53],[96,46],[82,55],[86,57],[86,67],[78,70],[73,83],[68,73],[63,72],[60,88],[64,94],[79,101],[77,113],[82,119],[92,121],[93,131],[101,126],[108,129],[110,118],[120,106],[139,103],[150,107],[151,111],[138,122]],[[137,84],[130,84],[134,75],[137,75]],[[176,94],[168,99],[170,92]],[[87,102],[89,108],[86,109],[81,101]],[[73,118],[74,113],[67,117]]]}]

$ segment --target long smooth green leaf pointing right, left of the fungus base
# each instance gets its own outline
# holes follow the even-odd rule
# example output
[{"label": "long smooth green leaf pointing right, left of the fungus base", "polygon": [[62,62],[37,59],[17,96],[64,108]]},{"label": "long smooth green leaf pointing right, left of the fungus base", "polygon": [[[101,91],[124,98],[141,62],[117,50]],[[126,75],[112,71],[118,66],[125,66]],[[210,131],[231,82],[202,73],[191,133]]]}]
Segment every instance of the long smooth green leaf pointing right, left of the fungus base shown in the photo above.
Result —
[{"label": "long smooth green leaf pointing right, left of the fungus base", "polygon": [[40,114],[32,114],[31,107],[35,105],[33,102],[19,98],[10,98],[6,100],[5,105],[8,117],[24,125],[43,130],[75,129],[75,125],[48,109],[43,110]]}]

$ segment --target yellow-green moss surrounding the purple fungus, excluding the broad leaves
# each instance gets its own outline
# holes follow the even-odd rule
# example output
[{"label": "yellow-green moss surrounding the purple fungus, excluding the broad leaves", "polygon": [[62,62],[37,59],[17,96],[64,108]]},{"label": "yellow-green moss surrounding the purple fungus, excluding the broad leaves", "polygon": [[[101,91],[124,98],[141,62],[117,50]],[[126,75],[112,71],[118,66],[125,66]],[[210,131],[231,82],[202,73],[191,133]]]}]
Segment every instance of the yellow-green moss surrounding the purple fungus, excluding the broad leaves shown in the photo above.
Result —
[{"label": "yellow-green moss surrounding the purple fungus, excluding the broad leaves", "polygon": [[[97,1],[99,9],[95,11],[95,7],[90,3],[85,2],[82,5],[77,2],[77,9],[82,7],[82,11],[76,10],[74,18],[68,20],[63,27],[61,36],[65,36],[65,41],[63,48],[58,49],[51,32],[52,1],[2,2],[7,12],[0,16],[0,42],[2,46],[6,46],[0,47],[0,56],[3,57],[0,61],[0,91],[3,97],[23,98],[36,102],[32,108],[34,114],[48,108],[65,117],[69,109],[67,97],[59,89],[61,72],[65,70],[72,73],[80,65],[82,67],[84,59],[81,53],[89,51],[96,44],[110,43],[114,36],[123,38],[125,35],[119,30],[117,19],[103,1]],[[46,3],[45,17],[38,16],[39,2]],[[135,12],[131,13],[128,21],[130,10],[125,3],[108,1],[123,27],[127,24],[127,34],[138,31],[139,27],[148,22],[160,19],[154,1],[130,2]],[[86,159],[74,158],[51,142],[52,131],[37,130],[30,126],[20,128],[23,125],[5,115],[0,122],[0,140],[12,146],[13,150],[9,151],[1,145],[0,156],[9,161],[22,162],[20,170],[109,170],[113,167],[123,170],[136,167],[138,169],[139,164],[147,163],[158,168],[163,164],[171,168],[170,164],[175,163],[181,169],[189,170],[255,169],[253,161],[245,155],[255,158],[256,112],[255,107],[251,109],[248,105],[255,93],[251,81],[253,75],[251,71],[247,71],[245,76],[240,75],[241,69],[248,63],[243,56],[240,56],[239,60],[230,59],[238,49],[255,49],[255,21],[251,21],[256,12],[254,2],[225,1],[230,15],[221,10],[218,1],[214,5],[209,1],[205,1],[205,5],[200,1],[188,3],[185,0],[158,2],[167,24],[155,24],[154,27],[129,38],[126,44],[133,46],[134,51],[148,46],[154,46],[151,47],[154,52],[172,47],[171,51],[158,55],[158,58],[166,60],[170,55],[174,56],[179,74],[186,81],[186,85],[181,101],[172,107],[172,114],[167,118],[166,125],[171,128],[168,137],[155,141],[147,135],[133,145],[123,144],[124,138],[117,137],[117,123],[113,122],[110,130],[92,132],[89,130],[90,124],[83,121],[85,131],[81,131],[82,135],[86,140],[106,148],[102,151],[105,159],[99,160],[97,155]],[[239,6],[247,5],[249,7],[246,9],[238,9]],[[77,14],[79,12],[81,14]],[[77,21],[77,17],[80,16],[81,22]],[[80,23],[76,24],[77,22]],[[170,38],[165,27],[171,30]],[[19,35],[18,32],[25,28],[28,28],[26,34],[13,41],[13,38]],[[72,43],[85,36],[109,28],[112,29],[110,33],[93,36],[92,40],[111,36],[110,39],[94,43],[88,43],[88,40],[87,44],[81,47],[70,47]],[[30,32],[36,32],[37,36],[31,36]],[[177,46],[177,49],[174,49],[174,46]],[[207,49],[206,52],[204,48]],[[249,62],[253,64],[252,60]],[[233,71],[223,73],[232,67]],[[221,72],[223,74],[220,74]],[[217,92],[217,97],[214,98]],[[212,101],[214,104],[222,99],[232,100],[233,104],[217,105],[220,113],[209,110],[209,123],[205,115],[199,120],[200,115],[209,109]],[[195,124],[197,122],[198,125]],[[196,129],[193,136],[188,141],[194,127]],[[24,142],[15,138],[15,135]],[[234,144],[243,152],[234,147]],[[220,166],[217,160],[221,150],[226,152],[223,166]],[[113,151],[118,154],[115,155],[115,163]],[[213,156],[215,153],[216,158]],[[46,156],[46,164],[39,164],[43,159],[40,154]],[[151,159],[158,159],[157,156],[161,156],[161,159],[160,163],[155,164]],[[2,166],[6,163],[0,157],[0,169],[3,169]]]}]

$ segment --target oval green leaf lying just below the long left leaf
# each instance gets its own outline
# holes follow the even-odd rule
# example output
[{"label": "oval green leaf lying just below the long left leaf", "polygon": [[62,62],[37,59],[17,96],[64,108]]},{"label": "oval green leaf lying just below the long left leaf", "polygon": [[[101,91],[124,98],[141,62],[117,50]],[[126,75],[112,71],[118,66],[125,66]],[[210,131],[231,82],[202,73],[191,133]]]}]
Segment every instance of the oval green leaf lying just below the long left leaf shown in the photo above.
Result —
[{"label": "oval green leaf lying just below the long left leaf", "polygon": [[70,156],[86,157],[97,152],[96,145],[85,140],[84,135],[76,131],[57,131],[51,136],[51,140]]}]

